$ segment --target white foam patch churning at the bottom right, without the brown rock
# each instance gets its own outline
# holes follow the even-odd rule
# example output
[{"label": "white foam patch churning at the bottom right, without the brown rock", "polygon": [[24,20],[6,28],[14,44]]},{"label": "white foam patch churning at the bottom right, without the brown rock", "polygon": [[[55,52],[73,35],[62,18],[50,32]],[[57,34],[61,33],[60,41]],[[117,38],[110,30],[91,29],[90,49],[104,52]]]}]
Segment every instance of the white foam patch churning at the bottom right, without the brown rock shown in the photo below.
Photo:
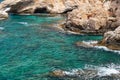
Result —
[{"label": "white foam patch churning at the bottom right, without the brown rock", "polygon": [[[103,76],[112,76],[114,75],[120,75],[120,66],[115,65],[115,64],[109,64],[105,66],[93,66],[93,65],[87,65],[84,68],[85,70],[93,70],[96,71],[96,75],[99,77]],[[82,73],[84,72],[84,69],[72,69],[71,71],[64,71],[66,75],[79,75],[77,72],[81,71]],[[93,72],[94,73],[94,72]],[[92,73],[91,73],[92,74]]]}]

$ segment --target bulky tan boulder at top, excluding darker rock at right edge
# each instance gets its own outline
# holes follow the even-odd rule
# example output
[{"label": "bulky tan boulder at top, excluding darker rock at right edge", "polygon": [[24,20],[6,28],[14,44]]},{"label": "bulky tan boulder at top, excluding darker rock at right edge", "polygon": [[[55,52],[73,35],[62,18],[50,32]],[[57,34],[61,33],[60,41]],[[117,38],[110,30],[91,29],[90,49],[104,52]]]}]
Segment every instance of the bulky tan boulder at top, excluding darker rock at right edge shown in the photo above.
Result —
[{"label": "bulky tan boulder at top, excluding darker rock at right edge", "polygon": [[65,28],[80,33],[104,33],[109,17],[109,2],[81,0],[79,7],[68,13]]}]

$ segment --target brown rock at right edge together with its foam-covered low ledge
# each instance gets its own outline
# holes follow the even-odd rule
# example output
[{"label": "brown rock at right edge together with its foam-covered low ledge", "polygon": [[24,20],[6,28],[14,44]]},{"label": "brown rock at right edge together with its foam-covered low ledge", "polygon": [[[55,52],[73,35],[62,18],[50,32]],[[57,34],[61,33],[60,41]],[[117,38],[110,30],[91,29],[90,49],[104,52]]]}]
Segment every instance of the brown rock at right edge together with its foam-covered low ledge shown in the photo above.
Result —
[{"label": "brown rock at right edge together with its foam-covered low ledge", "polygon": [[85,48],[102,48],[108,51],[120,50],[120,26],[114,31],[106,32],[101,41],[82,41],[77,42],[76,45]]}]

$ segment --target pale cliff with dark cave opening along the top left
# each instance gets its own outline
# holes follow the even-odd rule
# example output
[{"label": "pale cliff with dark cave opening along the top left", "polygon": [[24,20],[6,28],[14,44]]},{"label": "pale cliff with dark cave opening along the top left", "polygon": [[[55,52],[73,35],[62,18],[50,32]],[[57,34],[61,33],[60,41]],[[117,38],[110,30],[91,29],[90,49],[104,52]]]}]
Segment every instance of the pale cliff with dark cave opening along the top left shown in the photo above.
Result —
[{"label": "pale cliff with dark cave opening along the top left", "polygon": [[12,13],[66,13],[74,9],[79,0],[5,0],[0,9],[10,7]]}]

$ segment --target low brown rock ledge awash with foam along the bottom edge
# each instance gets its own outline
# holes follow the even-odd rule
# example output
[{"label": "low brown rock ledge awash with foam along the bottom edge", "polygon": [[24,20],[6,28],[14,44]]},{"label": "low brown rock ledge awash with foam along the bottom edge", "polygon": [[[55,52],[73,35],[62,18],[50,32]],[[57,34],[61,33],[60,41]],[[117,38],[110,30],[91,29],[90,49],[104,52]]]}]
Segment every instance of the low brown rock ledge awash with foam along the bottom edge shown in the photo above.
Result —
[{"label": "low brown rock ledge awash with foam along the bottom edge", "polygon": [[[120,72],[115,69],[107,69],[114,71],[113,73],[106,74],[105,70],[95,69],[76,69],[72,71],[55,70],[50,72],[48,76],[54,80],[117,80],[120,79]],[[104,74],[105,73],[105,74]],[[55,79],[56,80],[56,79]]]}]

